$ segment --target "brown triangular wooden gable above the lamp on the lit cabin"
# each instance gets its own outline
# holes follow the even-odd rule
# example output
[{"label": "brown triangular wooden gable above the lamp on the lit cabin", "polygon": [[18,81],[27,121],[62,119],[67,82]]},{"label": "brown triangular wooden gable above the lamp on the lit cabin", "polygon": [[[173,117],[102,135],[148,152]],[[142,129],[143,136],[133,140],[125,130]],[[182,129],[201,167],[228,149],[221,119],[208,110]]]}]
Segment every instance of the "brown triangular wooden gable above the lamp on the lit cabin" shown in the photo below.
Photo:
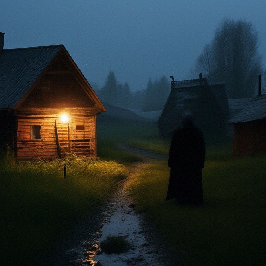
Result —
[{"label": "brown triangular wooden gable above the lamp on the lit cabin", "polygon": [[93,99],[60,58],[63,56],[61,52],[55,56],[32,91],[20,103],[19,109],[96,107]]}]

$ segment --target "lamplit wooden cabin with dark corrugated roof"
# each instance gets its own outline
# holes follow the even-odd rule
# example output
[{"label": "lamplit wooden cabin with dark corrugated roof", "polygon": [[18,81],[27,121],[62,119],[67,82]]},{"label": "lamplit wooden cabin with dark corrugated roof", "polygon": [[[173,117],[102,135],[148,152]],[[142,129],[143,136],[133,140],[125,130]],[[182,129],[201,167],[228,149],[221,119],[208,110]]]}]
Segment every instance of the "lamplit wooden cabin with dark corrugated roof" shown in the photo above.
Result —
[{"label": "lamplit wooden cabin with dark corrugated roof", "polygon": [[64,45],[1,49],[0,73],[2,147],[21,160],[97,156],[106,109]]}]

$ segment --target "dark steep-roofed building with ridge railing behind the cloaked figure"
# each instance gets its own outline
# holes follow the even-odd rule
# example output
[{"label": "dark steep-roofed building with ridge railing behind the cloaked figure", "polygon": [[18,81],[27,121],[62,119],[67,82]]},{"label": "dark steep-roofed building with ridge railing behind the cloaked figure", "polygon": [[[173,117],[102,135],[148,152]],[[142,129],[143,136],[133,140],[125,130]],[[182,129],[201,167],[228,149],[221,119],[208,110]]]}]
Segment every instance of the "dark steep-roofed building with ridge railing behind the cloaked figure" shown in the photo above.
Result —
[{"label": "dark steep-roofed building with ridge railing behind the cloaked figure", "polygon": [[196,125],[205,133],[226,133],[230,111],[225,85],[208,84],[201,74],[196,80],[173,80],[157,122],[162,138],[171,138],[185,113],[191,113]]}]

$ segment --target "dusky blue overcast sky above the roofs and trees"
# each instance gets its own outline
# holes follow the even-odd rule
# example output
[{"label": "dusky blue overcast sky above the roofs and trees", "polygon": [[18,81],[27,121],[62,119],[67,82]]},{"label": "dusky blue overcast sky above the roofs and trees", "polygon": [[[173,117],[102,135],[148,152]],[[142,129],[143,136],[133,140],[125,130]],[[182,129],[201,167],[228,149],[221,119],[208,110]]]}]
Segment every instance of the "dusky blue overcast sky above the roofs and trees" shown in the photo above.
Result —
[{"label": "dusky blue overcast sky above the roofs and trees", "polygon": [[[266,68],[266,1],[0,1],[4,48],[64,44],[89,82],[132,90],[191,69],[224,17],[251,21]],[[170,81],[170,78],[169,78]]]}]

